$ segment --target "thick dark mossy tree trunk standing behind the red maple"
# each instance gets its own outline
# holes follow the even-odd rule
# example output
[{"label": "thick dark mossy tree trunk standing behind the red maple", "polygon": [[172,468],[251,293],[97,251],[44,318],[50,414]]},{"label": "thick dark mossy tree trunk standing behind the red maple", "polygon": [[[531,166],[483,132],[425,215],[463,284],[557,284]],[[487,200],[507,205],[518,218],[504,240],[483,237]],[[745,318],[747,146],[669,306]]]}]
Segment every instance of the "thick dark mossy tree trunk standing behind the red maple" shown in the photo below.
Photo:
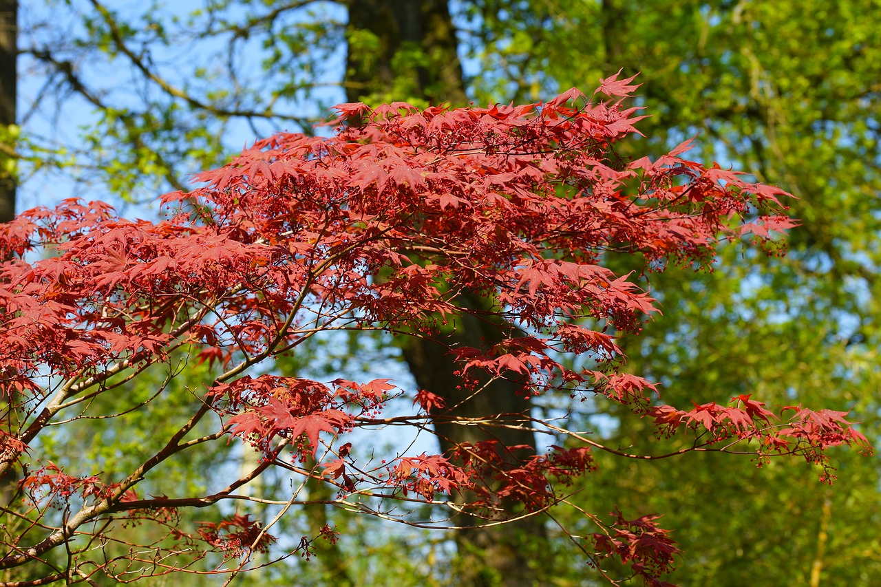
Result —
[{"label": "thick dark mossy tree trunk standing behind the red maple", "polygon": [[[345,79],[348,100],[372,101],[389,93],[403,92],[408,94],[391,98],[417,98],[433,103],[449,101],[455,106],[467,102],[462,66],[456,53],[455,27],[446,0],[351,0],[347,32],[350,40],[368,33],[366,36],[376,49],[359,55],[358,43],[350,44]],[[402,55],[415,56],[418,63],[407,63]],[[414,71],[415,79],[402,79],[405,75],[412,76]],[[492,301],[472,297],[463,303],[479,311],[489,309]],[[461,366],[447,354],[449,346],[491,346],[518,333],[510,324],[460,316],[455,334],[451,336],[439,335],[435,340],[413,337],[406,341],[403,356],[418,387],[445,398],[448,406],[457,406],[443,412],[434,422],[442,451],[465,442],[496,440],[503,447],[529,447],[509,453],[509,460],[535,454],[535,435],[528,423],[517,428],[463,425],[453,421],[512,414],[498,420],[516,425],[522,419],[515,414],[529,414],[529,399],[518,393],[522,383],[495,381],[477,394],[463,390],[455,375]],[[445,417],[451,418],[445,420]],[[466,501],[469,497],[463,496]],[[502,504],[502,507],[507,512],[499,517],[520,513],[514,504]],[[460,514],[452,523],[466,528],[455,535],[461,564],[461,568],[456,569],[459,583],[515,587],[543,583],[540,577],[546,568],[543,569],[545,565],[540,557],[547,548],[543,544],[546,533],[540,517],[482,527],[487,520]]]}]

